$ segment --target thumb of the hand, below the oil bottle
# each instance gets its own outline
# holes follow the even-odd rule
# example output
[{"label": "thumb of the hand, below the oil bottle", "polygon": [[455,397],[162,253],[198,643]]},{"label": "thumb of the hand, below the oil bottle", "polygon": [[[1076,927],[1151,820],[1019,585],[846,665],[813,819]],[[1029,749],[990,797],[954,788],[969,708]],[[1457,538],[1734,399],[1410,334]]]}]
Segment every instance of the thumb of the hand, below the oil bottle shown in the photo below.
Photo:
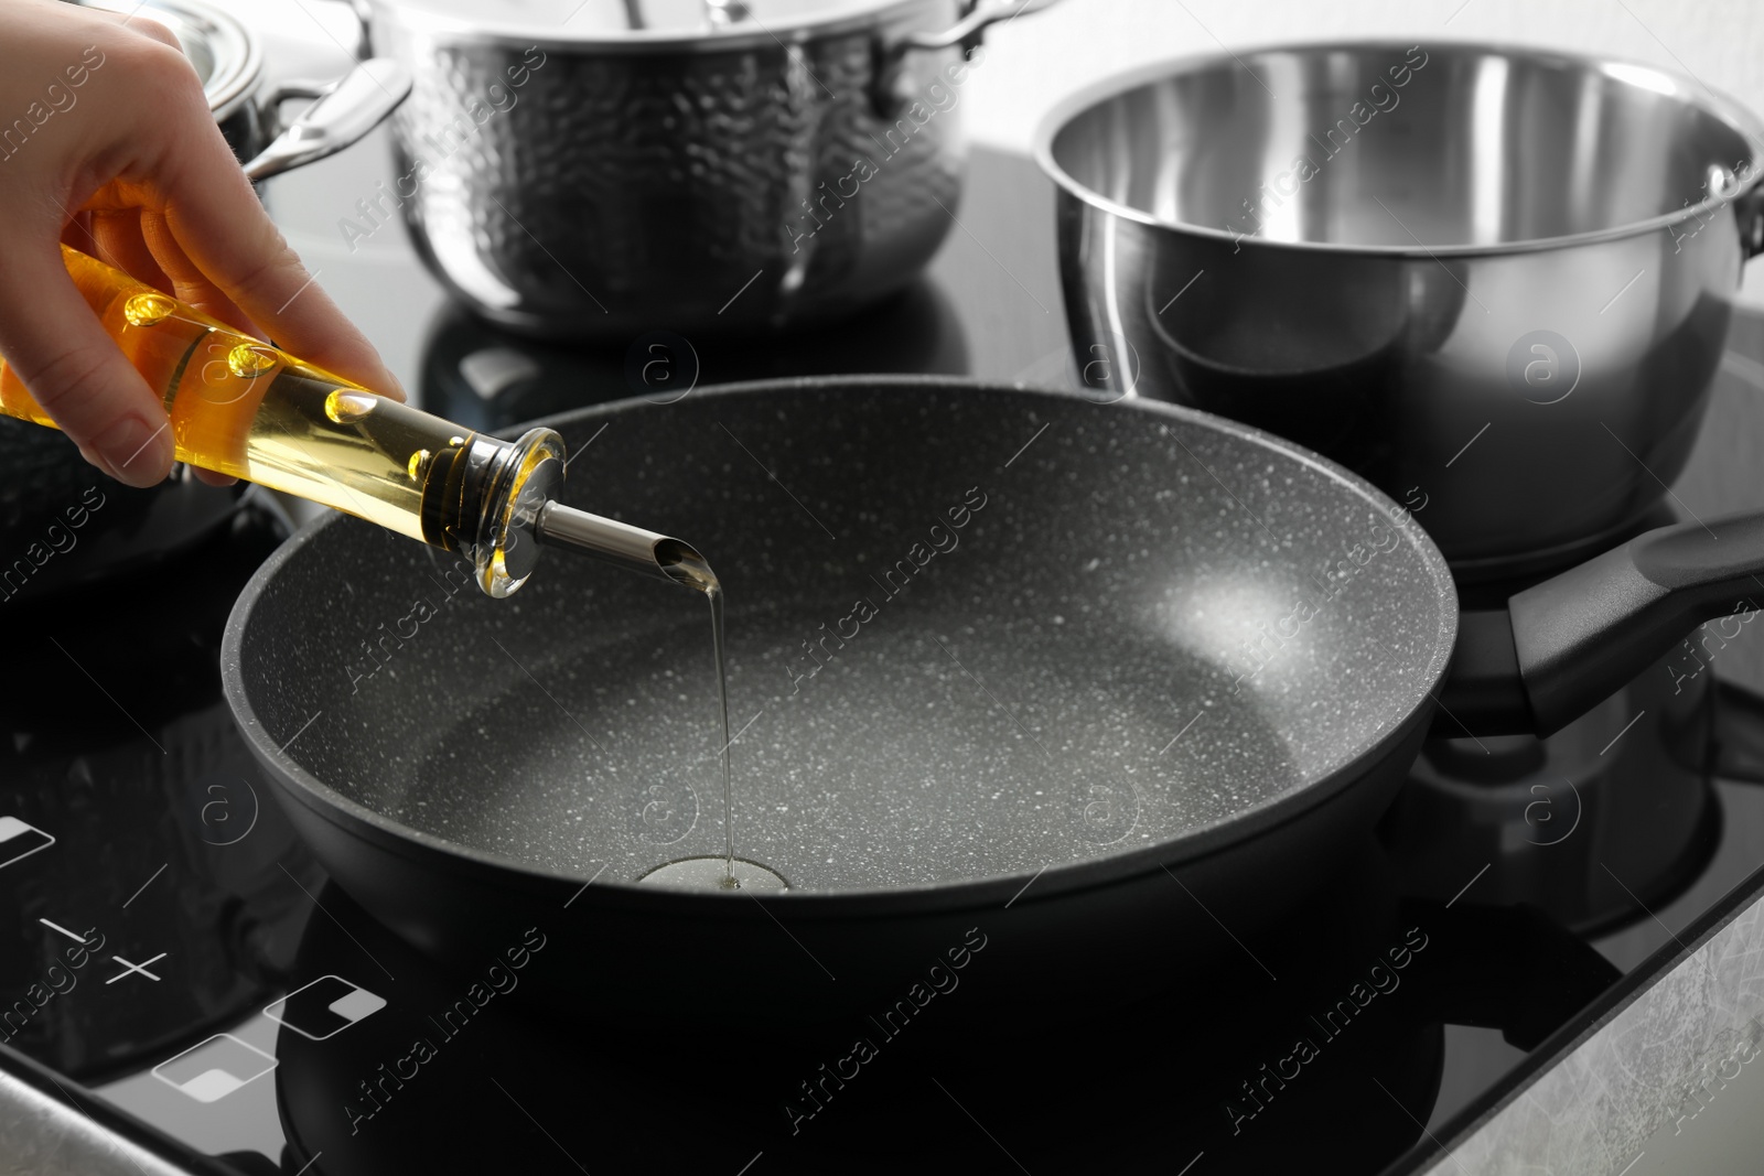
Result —
[{"label": "thumb of the hand, below the oil bottle", "polygon": [[60,247],[0,257],[0,354],[88,462],[131,487],[171,473],[171,420],[74,287]]}]

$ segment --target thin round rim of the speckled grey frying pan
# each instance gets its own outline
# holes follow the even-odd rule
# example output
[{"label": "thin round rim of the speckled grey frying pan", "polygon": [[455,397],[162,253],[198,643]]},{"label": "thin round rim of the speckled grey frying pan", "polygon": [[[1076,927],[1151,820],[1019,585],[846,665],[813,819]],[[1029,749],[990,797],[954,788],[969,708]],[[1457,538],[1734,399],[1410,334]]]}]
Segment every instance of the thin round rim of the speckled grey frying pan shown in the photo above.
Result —
[{"label": "thin round rim of the speckled grey frying pan", "polygon": [[[882,393],[893,391],[968,391],[968,393],[998,393],[1011,398],[1021,400],[1046,400],[1057,402],[1060,406],[1085,404],[1083,397],[1073,391],[1057,391],[1046,388],[1021,388],[991,381],[977,381],[968,377],[949,377],[949,376],[831,376],[831,377],[792,377],[792,379],[767,379],[767,381],[744,381],[732,384],[718,384],[697,390],[693,395],[700,398],[714,397],[764,397],[776,393],[792,391],[836,391],[836,390],[871,390]],[[519,432],[531,427],[552,427],[559,423],[577,425],[582,421],[594,421],[602,416],[614,416],[637,409],[639,406],[654,407],[642,397],[630,397],[624,400],[612,400],[607,404],[584,406],[580,409],[572,409],[568,413],[552,414],[519,428],[505,432]],[[1124,406],[1127,406],[1124,409]],[[1154,400],[1124,400],[1115,406],[1095,406],[1099,411],[1124,409],[1147,413],[1154,418],[1164,418],[1171,421],[1182,421],[1187,425],[1200,427],[1203,430],[1224,432],[1235,435],[1242,441],[1256,444],[1263,450],[1272,450],[1282,457],[1298,462],[1300,465],[1309,465],[1318,473],[1341,483],[1346,490],[1362,497],[1369,506],[1378,508],[1387,517],[1392,511],[1401,511],[1401,506],[1378,490],[1372,483],[1365,481],[1358,474],[1337,465],[1335,462],[1312,453],[1291,441],[1268,434],[1265,430],[1215,416],[1212,413],[1203,413],[1198,409],[1189,409],[1182,406],[1154,402]],[[242,663],[240,663],[240,645],[243,642],[245,628],[250,624],[252,610],[256,603],[265,596],[275,577],[284,566],[298,557],[300,550],[316,540],[326,527],[344,525],[342,515],[325,515],[314,518],[312,522],[300,527],[288,541],[284,541],[265,562],[259,566],[250,580],[245,584],[238,599],[233,603],[233,610],[228,615],[226,631],[220,642],[220,679],[222,691],[228,700],[228,707],[233,712],[233,721],[238,725],[240,733],[245,737],[254,758],[265,767],[270,776],[272,790],[280,797],[291,797],[298,800],[312,815],[335,825],[339,830],[365,837],[383,850],[390,850],[399,857],[406,857],[413,862],[434,860],[443,864],[448,871],[459,873],[466,871],[478,875],[480,878],[490,880],[492,883],[505,889],[517,890],[577,890],[584,899],[584,906],[605,906],[616,904],[624,910],[651,910],[651,912],[669,912],[669,913],[697,913],[700,917],[709,915],[718,910],[716,903],[727,903],[736,896],[714,894],[714,892],[693,892],[693,890],[670,890],[662,887],[642,887],[628,880],[609,880],[594,883],[580,873],[564,873],[559,869],[536,866],[533,862],[522,862],[515,857],[505,853],[494,853],[489,850],[478,850],[473,846],[459,845],[434,834],[411,829],[402,822],[392,820],[383,813],[377,813],[358,800],[342,795],[330,785],[318,779],[309,772],[300,762],[289,756],[268,733],[258,716],[252,702],[245,691]],[[372,525],[355,520],[348,525]],[[1406,518],[1395,525],[1395,531],[1402,534],[1415,554],[1422,559],[1424,571],[1432,582],[1432,599],[1438,607],[1439,624],[1436,629],[1436,642],[1427,659],[1427,665],[1420,674],[1420,696],[1409,707],[1406,714],[1399,719],[1390,721],[1383,726],[1376,737],[1362,742],[1360,751],[1351,758],[1344,760],[1330,772],[1295,786],[1281,795],[1265,800],[1249,809],[1238,811],[1237,815],[1203,829],[1168,837],[1162,841],[1154,841],[1152,845],[1138,846],[1127,853],[1110,855],[1110,857],[1081,857],[1076,860],[1050,864],[1039,871],[1013,871],[1005,875],[986,875],[977,878],[960,878],[953,882],[924,882],[924,883],[907,883],[886,889],[841,889],[841,890],[815,890],[815,889],[792,889],[781,894],[769,896],[769,904],[787,903],[792,917],[806,919],[847,919],[847,917],[891,917],[900,915],[903,910],[963,910],[963,908],[986,908],[995,906],[1005,899],[1014,901],[1023,890],[1034,885],[1034,899],[1048,899],[1053,896],[1067,896],[1081,890],[1111,885],[1124,878],[1134,878],[1148,875],[1168,866],[1185,866],[1205,857],[1212,857],[1231,846],[1237,846],[1251,837],[1261,836],[1279,825],[1297,820],[1314,808],[1327,804],[1342,792],[1349,790],[1355,783],[1371,776],[1376,767],[1385,762],[1394,749],[1397,749],[1406,739],[1409,739],[1418,725],[1431,719],[1434,698],[1439,689],[1439,682],[1445,679],[1446,668],[1452,659],[1452,649],[1457,638],[1457,589],[1452,580],[1450,568],[1446,566],[1445,555],[1439,547],[1427,536],[1427,532]],[[1416,592],[1422,591],[1416,587]],[[589,901],[586,890],[593,889],[594,896]],[[573,901],[573,899],[572,899]],[[1025,897],[1025,904],[1032,899]],[[744,912],[744,904],[734,908],[721,908],[725,915],[734,915],[736,910]],[[748,912],[751,913],[751,912]],[[757,915],[757,913],[755,913]]]}]

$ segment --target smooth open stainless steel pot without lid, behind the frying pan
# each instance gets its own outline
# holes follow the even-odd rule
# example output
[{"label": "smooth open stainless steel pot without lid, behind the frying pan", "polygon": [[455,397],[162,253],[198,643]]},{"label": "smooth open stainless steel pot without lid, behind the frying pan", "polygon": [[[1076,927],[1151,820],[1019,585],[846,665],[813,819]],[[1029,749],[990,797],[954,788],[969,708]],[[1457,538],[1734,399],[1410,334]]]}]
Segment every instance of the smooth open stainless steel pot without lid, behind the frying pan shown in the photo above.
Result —
[{"label": "smooth open stainless steel pot without lid, behind the frying pan", "polygon": [[1648,65],[1348,44],[1110,81],[1037,155],[1088,384],[1321,450],[1475,582],[1607,545],[1683,469],[1760,143]]}]

